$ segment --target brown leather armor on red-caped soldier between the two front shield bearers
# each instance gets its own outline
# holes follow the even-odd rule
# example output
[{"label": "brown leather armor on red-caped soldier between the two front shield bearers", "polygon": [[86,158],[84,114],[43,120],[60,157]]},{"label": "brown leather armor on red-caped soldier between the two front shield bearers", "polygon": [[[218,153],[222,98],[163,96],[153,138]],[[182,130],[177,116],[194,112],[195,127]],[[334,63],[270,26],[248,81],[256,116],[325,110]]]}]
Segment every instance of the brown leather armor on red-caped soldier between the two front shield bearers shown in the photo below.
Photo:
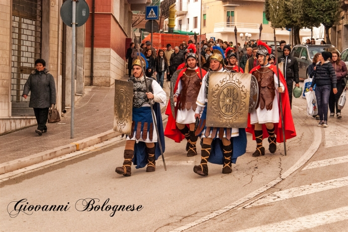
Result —
[{"label": "brown leather armor on red-caped soldier between the two front shield bearers", "polygon": [[179,110],[189,110],[192,108],[192,110],[195,111],[197,108],[196,101],[202,80],[199,78],[198,72],[193,69],[186,69],[180,80],[181,92],[177,107]]}]

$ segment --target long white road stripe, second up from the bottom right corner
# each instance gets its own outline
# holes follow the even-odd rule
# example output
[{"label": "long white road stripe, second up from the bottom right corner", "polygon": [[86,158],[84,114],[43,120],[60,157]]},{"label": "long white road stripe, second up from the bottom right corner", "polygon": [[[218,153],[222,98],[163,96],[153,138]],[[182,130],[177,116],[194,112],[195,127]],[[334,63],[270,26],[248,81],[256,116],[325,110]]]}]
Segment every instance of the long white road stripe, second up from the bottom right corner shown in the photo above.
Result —
[{"label": "long white road stripe, second up from the bottom right corner", "polygon": [[269,194],[262,195],[260,198],[256,199],[253,202],[250,202],[240,209],[247,209],[254,206],[260,206],[276,201],[282,201],[289,198],[304,196],[316,192],[326,191],[334,188],[340,188],[348,185],[348,176],[338,178],[338,179],[331,179],[323,182],[318,183],[312,183],[308,185],[302,185],[299,187],[289,188],[277,192],[272,192]]}]

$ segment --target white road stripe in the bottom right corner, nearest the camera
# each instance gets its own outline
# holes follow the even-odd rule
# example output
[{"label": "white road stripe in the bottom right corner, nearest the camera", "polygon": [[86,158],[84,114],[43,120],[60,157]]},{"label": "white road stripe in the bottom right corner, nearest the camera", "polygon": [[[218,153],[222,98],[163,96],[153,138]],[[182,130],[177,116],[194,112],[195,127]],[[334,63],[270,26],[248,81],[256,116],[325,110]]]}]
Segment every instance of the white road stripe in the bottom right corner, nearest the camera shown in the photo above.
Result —
[{"label": "white road stripe in the bottom right corner, nearest the camera", "polygon": [[344,221],[347,219],[348,207],[342,207],[238,232],[296,232]]}]

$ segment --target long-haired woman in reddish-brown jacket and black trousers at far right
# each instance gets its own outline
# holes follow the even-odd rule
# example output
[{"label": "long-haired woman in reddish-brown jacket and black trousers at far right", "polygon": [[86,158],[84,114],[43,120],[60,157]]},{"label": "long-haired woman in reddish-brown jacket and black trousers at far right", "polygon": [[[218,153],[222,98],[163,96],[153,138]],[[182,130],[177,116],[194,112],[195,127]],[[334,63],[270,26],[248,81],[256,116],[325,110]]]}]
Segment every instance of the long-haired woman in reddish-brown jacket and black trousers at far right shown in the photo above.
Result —
[{"label": "long-haired woman in reddish-brown jacket and black trousers at far right", "polygon": [[346,85],[343,81],[343,78],[347,76],[347,66],[344,61],[341,60],[340,54],[337,51],[332,52],[332,66],[335,69],[336,77],[337,77],[337,94],[334,94],[333,88],[331,88],[330,98],[329,98],[329,109],[330,109],[330,117],[335,116],[335,107],[336,107],[336,116],[338,119],[341,119],[341,110],[338,108],[338,102],[341,97],[343,90]]}]

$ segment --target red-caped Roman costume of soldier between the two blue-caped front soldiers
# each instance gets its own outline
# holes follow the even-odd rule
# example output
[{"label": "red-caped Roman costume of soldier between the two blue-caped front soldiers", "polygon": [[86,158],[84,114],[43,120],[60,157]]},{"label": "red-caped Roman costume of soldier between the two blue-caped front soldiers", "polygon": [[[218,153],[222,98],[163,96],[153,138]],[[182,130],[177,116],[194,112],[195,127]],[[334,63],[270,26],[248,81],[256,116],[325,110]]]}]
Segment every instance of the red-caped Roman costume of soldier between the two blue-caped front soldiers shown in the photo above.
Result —
[{"label": "red-caped Roman costume of soldier between the two blue-caped front soldiers", "polygon": [[[189,53],[186,57],[196,58],[195,53]],[[189,129],[189,124],[195,122],[194,114],[197,108],[196,100],[201,87],[202,76],[206,71],[202,69],[202,73],[197,66],[194,68],[186,67],[178,74],[175,86],[174,97],[177,98],[174,109],[175,118],[172,115],[171,102],[168,103],[166,115],[168,115],[168,123],[165,130],[165,136],[173,139],[175,142],[180,142],[186,138],[187,156],[197,155],[196,142],[198,136],[194,134],[193,130]],[[184,128],[179,129],[176,123],[184,124]]]}]

